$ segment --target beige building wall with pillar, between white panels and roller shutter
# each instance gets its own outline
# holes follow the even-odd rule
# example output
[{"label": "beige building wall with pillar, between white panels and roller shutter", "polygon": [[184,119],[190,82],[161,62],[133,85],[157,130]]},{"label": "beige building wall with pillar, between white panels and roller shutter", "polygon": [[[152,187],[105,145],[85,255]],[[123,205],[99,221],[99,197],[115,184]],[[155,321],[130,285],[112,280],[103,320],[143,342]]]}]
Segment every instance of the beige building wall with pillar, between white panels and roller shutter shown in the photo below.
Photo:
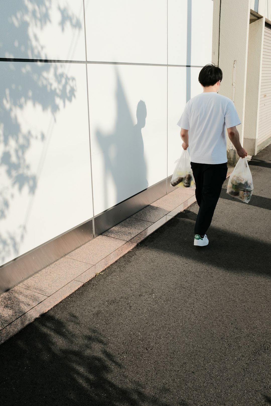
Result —
[{"label": "beige building wall with pillar, between white panels and roller shutter", "polygon": [[[242,123],[237,127],[240,141],[249,155],[257,153],[264,24],[271,23],[271,0],[255,4],[214,0],[213,9],[212,62],[223,71],[219,93],[235,104]],[[238,155],[229,138],[227,150],[228,162],[235,164]]]}]

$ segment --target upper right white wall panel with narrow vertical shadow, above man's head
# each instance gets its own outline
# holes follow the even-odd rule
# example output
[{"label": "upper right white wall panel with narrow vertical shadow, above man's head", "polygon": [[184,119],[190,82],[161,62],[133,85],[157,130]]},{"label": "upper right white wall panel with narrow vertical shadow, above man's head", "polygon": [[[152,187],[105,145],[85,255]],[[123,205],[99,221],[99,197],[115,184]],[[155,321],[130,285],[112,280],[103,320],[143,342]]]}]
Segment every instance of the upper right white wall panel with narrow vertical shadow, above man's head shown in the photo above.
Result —
[{"label": "upper right white wall panel with narrow vertical shadow, above man's head", "polygon": [[212,7],[212,0],[168,0],[169,65],[211,63]]}]

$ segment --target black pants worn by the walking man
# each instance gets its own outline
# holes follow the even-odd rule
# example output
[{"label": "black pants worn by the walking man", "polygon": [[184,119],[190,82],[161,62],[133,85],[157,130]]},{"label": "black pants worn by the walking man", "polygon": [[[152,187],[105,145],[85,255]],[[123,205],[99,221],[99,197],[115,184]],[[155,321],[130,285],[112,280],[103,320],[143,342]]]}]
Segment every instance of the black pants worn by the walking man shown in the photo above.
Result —
[{"label": "black pants worn by the walking man", "polygon": [[199,205],[195,234],[204,235],[210,227],[228,167],[227,162],[217,165],[191,162],[191,168],[196,184],[197,204]]}]

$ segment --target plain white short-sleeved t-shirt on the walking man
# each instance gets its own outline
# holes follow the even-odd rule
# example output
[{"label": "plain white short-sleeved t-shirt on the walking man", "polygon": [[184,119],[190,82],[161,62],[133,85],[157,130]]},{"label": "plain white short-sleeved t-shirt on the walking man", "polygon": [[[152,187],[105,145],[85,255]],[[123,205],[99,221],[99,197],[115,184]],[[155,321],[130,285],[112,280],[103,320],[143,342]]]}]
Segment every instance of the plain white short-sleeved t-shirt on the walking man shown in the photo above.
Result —
[{"label": "plain white short-sleeved t-shirt on the walking man", "polygon": [[241,121],[231,99],[204,92],[186,103],[177,124],[189,130],[191,162],[223,164],[228,161],[225,127],[234,127]]}]

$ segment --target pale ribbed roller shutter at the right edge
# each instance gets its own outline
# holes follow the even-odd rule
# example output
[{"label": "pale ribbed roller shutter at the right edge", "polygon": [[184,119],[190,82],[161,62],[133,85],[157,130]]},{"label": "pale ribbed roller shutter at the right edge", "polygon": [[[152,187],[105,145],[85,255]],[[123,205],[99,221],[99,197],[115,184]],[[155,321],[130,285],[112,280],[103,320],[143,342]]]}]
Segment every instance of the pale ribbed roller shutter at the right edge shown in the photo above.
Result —
[{"label": "pale ribbed roller shutter at the right edge", "polygon": [[271,137],[271,29],[264,27],[258,145]]}]

